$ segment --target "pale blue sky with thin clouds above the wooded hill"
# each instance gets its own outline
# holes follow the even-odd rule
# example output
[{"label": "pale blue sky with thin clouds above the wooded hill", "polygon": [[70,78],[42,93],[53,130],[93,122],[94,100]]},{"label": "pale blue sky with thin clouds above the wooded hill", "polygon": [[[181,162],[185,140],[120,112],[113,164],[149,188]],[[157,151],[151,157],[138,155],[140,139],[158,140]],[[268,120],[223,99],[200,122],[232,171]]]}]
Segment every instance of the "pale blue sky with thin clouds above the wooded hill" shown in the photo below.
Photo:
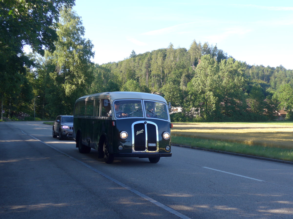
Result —
[{"label": "pale blue sky with thin clouds above the wooded hill", "polygon": [[[241,2],[241,3],[237,3]],[[167,48],[217,45],[249,65],[293,69],[293,1],[76,0],[93,62]]]}]

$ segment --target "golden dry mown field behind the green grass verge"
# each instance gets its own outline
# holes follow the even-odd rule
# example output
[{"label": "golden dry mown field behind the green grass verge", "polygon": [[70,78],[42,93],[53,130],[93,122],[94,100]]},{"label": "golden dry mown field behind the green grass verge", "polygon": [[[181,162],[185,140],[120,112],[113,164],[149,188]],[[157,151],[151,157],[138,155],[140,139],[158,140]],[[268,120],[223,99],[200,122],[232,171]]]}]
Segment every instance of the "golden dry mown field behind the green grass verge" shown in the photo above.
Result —
[{"label": "golden dry mown field behind the green grass verge", "polygon": [[293,149],[293,123],[173,123],[171,134]]}]

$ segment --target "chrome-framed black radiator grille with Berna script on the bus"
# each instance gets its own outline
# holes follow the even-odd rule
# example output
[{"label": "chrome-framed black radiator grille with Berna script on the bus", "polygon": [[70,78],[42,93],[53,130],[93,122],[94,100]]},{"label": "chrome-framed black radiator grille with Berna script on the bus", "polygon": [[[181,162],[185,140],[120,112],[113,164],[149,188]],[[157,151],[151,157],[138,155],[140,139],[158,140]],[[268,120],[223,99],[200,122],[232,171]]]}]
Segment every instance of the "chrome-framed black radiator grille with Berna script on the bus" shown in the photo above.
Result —
[{"label": "chrome-framed black radiator grille with Berna script on the bus", "polygon": [[159,151],[158,128],[155,123],[139,121],[132,124],[132,151]]}]

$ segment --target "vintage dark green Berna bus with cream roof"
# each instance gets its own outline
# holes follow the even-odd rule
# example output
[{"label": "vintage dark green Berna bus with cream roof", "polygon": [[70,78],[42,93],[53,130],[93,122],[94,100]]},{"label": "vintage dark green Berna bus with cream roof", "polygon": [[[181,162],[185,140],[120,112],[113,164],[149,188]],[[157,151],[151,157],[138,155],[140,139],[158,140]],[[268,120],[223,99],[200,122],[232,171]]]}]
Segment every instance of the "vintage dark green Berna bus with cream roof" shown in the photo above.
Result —
[{"label": "vintage dark green Berna bus with cream roof", "polygon": [[76,147],[80,153],[98,150],[99,158],[108,164],[114,157],[148,158],[151,163],[171,157],[169,107],[163,97],[151,93],[83,96],[74,107]]}]

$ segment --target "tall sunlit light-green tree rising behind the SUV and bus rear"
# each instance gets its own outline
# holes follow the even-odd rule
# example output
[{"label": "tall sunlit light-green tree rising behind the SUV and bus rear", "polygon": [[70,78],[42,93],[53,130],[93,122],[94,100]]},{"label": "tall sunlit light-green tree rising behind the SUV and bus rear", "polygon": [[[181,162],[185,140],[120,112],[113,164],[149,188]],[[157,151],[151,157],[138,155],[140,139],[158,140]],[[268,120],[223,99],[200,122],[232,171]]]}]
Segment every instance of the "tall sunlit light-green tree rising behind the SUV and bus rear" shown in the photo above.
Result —
[{"label": "tall sunlit light-green tree rising behind the SUV and bus rear", "polygon": [[[54,116],[60,113],[72,114],[75,100],[88,93],[92,78],[91,58],[94,56],[93,44],[83,37],[81,18],[70,8],[64,8],[60,15],[57,29],[59,40],[52,53],[56,69],[50,72],[54,86],[46,92],[48,108],[55,108],[56,101],[63,106],[52,112]],[[55,100],[56,98],[58,99]]]}]

